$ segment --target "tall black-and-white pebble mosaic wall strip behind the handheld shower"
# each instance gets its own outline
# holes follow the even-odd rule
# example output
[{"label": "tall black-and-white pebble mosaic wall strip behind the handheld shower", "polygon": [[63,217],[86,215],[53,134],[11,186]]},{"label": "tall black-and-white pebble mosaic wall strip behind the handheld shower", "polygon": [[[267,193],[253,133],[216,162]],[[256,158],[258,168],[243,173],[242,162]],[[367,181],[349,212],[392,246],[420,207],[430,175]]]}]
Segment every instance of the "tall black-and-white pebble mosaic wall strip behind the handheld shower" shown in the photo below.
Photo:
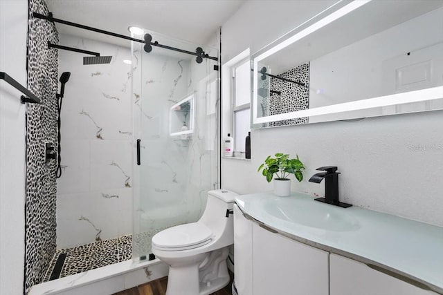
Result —
[{"label": "tall black-and-white pebble mosaic wall strip behind the handheld shower", "polygon": [[44,0],[29,0],[28,89],[42,104],[28,104],[26,110],[26,198],[25,198],[25,282],[24,291],[41,283],[56,249],[57,161],[45,162],[45,144],[57,150],[58,44],[54,23],[34,19],[32,12],[48,15]]}]

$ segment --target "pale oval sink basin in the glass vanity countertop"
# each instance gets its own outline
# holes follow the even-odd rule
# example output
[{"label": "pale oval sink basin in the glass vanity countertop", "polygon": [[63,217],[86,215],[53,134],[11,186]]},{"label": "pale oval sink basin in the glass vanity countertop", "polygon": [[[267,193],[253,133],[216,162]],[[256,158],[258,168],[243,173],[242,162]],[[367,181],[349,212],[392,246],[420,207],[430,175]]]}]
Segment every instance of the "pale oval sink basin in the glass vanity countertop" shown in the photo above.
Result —
[{"label": "pale oval sink basin in the glass vanity countertop", "polygon": [[358,220],[345,210],[331,205],[318,204],[297,198],[275,198],[264,200],[263,211],[278,218],[305,227],[328,231],[356,231]]}]

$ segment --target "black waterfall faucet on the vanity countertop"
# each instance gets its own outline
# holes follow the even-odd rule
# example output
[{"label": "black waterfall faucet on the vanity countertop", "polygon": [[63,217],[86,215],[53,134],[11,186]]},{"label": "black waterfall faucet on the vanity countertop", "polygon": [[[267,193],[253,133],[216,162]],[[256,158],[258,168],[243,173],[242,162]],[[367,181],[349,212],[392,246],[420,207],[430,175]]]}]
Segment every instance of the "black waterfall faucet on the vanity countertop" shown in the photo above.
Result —
[{"label": "black waterfall faucet on the vanity countertop", "polygon": [[340,174],[340,172],[336,172],[337,167],[324,166],[317,168],[316,170],[326,171],[326,172],[319,172],[312,175],[312,177],[309,178],[309,181],[320,183],[323,180],[323,178],[326,178],[326,180],[325,180],[325,198],[316,198],[315,200],[318,202],[332,204],[334,206],[343,207],[343,208],[351,207],[352,204],[343,203],[338,200],[338,174]]}]

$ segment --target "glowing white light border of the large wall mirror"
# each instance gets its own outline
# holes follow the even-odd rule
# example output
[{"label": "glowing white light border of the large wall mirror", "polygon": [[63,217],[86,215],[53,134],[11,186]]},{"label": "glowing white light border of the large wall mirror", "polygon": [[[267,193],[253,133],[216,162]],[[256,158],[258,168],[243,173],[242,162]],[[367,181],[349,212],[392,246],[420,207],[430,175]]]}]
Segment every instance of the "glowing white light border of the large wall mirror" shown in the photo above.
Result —
[{"label": "glowing white light border of the large wall mirror", "polygon": [[[330,106],[322,106],[318,108],[311,108],[307,110],[302,111],[295,111],[295,112],[289,112],[289,113],[283,113],[278,115],[269,115],[266,117],[258,117],[257,114],[257,102],[258,102],[258,93],[256,89],[258,89],[258,77],[259,77],[259,66],[258,64],[260,61],[265,59],[266,57],[269,57],[270,55],[273,55],[274,53],[277,53],[279,50],[282,50],[283,48],[286,48],[287,46],[293,44],[294,42],[302,39],[303,37],[306,37],[307,35],[311,34],[312,32],[316,32],[316,30],[319,30],[320,28],[323,28],[324,26],[327,26],[327,24],[332,23],[333,21],[336,21],[337,19],[340,19],[341,17],[347,15],[348,13],[356,10],[357,8],[360,8],[361,6],[364,6],[365,4],[369,3],[373,0],[359,0],[359,1],[352,1],[351,3],[347,4],[346,6],[343,6],[342,8],[339,8],[338,10],[332,12],[331,14],[327,15],[323,19],[320,19],[316,23],[311,24],[307,28],[300,30],[300,32],[297,32],[292,37],[289,37],[288,39],[282,41],[281,43],[273,46],[269,50],[266,50],[266,52],[262,53],[261,55],[258,55],[253,59],[253,125],[255,124],[262,124],[262,123],[269,123],[269,122],[275,122],[280,120],[288,120],[288,119],[294,119],[298,117],[311,117],[316,115],[327,115],[327,114],[333,114],[333,113],[344,113],[348,111],[357,111],[362,109],[368,109],[368,108],[376,108],[380,106],[392,106],[397,104],[406,104],[410,102],[422,102],[426,100],[433,100],[433,99],[442,99],[443,98],[443,86],[438,86],[434,88],[427,88],[419,91],[410,91],[406,93],[398,93],[394,95],[386,95],[382,97],[372,97],[368,99],[361,99],[356,100],[354,102],[345,102],[343,104],[334,104]],[[334,4],[334,6],[341,1],[338,1]],[[332,8],[332,6],[330,7]],[[329,10],[330,8],[327,8]],[[325,10],[326,11],[326,10]],[[320,12],[318,15],[323,14],[325,11]],[[316,15],[315,17],[318,17]],[[315,17],[311,18],[314,19]],[[305,23],[309,22],[311,19],[306,21]],[[303,26],[305,23],[302,23],[298,28]]]}]

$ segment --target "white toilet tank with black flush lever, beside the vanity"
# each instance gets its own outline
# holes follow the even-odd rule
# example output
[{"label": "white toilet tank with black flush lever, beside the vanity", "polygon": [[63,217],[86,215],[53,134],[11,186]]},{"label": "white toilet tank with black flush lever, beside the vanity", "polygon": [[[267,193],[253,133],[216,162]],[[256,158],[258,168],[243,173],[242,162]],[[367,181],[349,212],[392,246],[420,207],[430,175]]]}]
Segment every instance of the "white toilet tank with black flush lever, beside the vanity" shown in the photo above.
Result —
[{"label": "white toilet tank with black flush lever, beside the vanity", "polygon": [[238,193],[227,189],[208,191],[208,202],[199,222],[213,231],[214,238],[218,239],[219,247],[231,245],[234,242],[233,214],[226,218],[226,210],[232,210],[235,197]]}]

